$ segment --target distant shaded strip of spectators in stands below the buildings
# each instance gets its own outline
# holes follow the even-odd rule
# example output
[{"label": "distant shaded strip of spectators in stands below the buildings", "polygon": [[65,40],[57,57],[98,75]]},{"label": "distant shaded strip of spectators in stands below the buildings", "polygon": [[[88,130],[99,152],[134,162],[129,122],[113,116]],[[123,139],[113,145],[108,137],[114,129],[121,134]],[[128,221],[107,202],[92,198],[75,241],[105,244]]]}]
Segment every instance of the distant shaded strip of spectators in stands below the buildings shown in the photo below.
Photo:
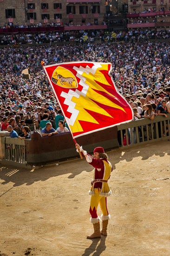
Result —
[{"label": "distant shaded strip of spectators in stands below the buildings", "polygon": [[[135,22],[133,20],[133,22]],[[140,23],[140,20],[136,21]],[[112,36],[116,34],[116,36]],[[100,39],[101,42],[112,41],[132,41],[132,40],[149,40],[149,39],[170,39],[170,29],[160,30],[141,28],[131,29],[127,32],[114,32],[104,30],[76,30],[76,31],[53,31],[48,33],[19,33],[19,34],[4,34],[0,37],[0,45],[22,45],[22,44],[42,44],[42,43],[57,43],[57,42],[76,42],[83,44]]]}]

